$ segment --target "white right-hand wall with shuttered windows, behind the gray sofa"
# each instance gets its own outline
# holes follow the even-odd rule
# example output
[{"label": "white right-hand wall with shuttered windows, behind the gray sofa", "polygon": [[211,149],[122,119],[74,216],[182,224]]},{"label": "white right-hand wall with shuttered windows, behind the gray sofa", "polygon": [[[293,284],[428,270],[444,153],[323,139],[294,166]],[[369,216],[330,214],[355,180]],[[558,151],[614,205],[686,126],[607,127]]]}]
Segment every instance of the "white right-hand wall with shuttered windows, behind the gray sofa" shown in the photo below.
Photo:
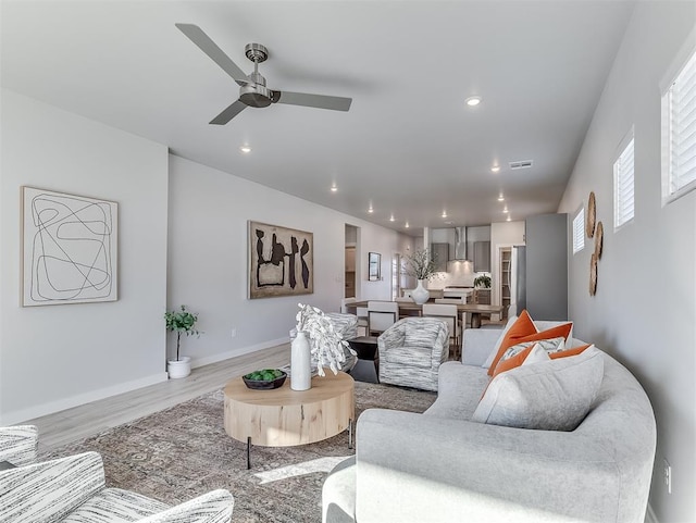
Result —
[{"label": "white right-hand wall with shuttered windows, behind the gray sofa", "polygon": [[[594,244],[586,239],[583,251],[569,250],[569,313],[576,336],[629,366],[650,397],[658,424],[650,506],[660,523],[696,521],[696,192],[661,207],[659,90],[695,26],[694,2],[636,3],[559,207],[573,216],[591,190],[597,197],[605,232],[597,294],[587,290]],[[635,220],[614,233],[612,164],[632,125]]]}]

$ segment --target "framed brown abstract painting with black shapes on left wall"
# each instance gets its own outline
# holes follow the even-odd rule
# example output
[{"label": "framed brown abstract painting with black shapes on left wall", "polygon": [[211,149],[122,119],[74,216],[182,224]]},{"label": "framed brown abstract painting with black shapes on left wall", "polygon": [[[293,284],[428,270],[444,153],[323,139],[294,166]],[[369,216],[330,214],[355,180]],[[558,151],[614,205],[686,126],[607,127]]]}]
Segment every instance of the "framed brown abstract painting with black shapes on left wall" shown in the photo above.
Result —
[{"label": "framed brown abstract painting with black shapes on left wall", "polygon": [[314,292],[314,235],[249,221],[249,298]]}]

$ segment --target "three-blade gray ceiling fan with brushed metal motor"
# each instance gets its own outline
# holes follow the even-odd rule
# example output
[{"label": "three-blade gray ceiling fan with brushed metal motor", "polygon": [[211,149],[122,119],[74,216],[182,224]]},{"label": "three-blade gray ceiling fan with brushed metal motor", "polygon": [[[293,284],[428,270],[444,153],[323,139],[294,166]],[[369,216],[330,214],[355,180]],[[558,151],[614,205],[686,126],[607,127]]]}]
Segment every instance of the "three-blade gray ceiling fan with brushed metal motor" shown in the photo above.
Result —
[{"label": "three-blade gray ceiling fan with brushed metal motor", "polygon": [[350,109],[352,98],[269,89],[265,86],[265,78],[259,73],[259,64],[269,58],[269,50],[261,43],[247,43],[245,47],[247,58],[253,62],[253,73],[246,75],[200,27],[192,24],[175,25],[240,86],[239,99],[211,120],[211,124],[225,125],[247,107],[265,108],[271,103],[286,103],[334,111],[348,111]]}]

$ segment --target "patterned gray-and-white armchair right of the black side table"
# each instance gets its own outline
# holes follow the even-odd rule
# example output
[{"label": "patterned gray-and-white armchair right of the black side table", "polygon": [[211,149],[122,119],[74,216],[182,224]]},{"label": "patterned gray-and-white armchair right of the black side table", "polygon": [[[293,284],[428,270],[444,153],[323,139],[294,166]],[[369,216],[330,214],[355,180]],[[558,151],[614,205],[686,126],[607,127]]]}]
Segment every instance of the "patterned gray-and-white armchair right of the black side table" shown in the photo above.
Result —
[{"label": "patterned gray-and-white armchair right of the black side table", "polygon": [[437,317],[405,317],[377,338],[380,383],[437,390],[449,356],[449,328]]}]

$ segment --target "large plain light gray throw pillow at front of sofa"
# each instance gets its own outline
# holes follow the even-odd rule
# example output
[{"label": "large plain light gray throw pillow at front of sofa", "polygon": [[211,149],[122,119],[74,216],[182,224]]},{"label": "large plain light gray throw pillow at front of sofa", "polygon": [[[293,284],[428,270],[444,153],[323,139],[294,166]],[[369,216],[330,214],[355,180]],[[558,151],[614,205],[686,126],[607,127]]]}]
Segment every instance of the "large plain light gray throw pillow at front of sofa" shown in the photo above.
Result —
[{"label": "large plain light gray throw pillow at front of sofa", "polygon": [[472,421],[544,431],[573,431],[585,419],[604,378],[604,356],[579,356],[522,365],[497,375]]}]

